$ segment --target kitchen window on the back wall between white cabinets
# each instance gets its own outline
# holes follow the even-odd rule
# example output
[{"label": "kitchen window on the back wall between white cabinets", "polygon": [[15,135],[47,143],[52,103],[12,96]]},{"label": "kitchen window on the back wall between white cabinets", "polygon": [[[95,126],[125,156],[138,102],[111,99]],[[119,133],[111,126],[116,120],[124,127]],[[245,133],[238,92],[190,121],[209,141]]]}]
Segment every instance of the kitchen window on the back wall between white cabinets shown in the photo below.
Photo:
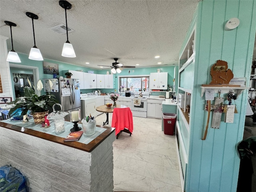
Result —
[{"label": "kitchen window on the back wall between white cabinets", "polygon": [[131,91],[148,91],[149,77],[120,77],[119,79],[119,91],[125,91],[129,88]]}]

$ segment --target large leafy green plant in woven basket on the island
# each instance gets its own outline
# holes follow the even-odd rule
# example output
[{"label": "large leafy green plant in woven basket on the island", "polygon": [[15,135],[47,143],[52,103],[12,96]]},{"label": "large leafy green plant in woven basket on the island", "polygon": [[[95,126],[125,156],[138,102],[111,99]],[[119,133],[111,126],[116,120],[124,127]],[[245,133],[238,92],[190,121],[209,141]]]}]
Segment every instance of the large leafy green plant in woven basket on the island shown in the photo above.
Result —
[{"label": "large leafy green plant in woven basket on the island", "polygon": [[42,96],[35,94],[34,89],[31,87],[24,87],[24,97],[17,98],[16,100],[8,103],[8,105],[13,105],[10,108],[8,115],[10,117],[15,116],[17,112],[21,111],[21,116],[24,116],[28,113],[28,110],[31,111],[34,122],[36,124],[41,124],[44,122],[44,116],[48,113],[49,109],[52,106],[58,103],[58,100],[55,99],[55,96],[47,93]]}]

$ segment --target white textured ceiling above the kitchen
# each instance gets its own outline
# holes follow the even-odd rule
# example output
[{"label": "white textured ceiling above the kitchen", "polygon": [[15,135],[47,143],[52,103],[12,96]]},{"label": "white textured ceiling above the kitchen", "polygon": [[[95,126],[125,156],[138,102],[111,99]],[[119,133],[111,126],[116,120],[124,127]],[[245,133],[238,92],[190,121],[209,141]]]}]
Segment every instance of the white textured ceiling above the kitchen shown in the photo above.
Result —
[{"label": "white textured ceiling above the kitchen", "polygon": [[[38,15],[34,20],[36,46],[43,58],[101,69],[113,58],[125,66],[150,67],[178,64],[179,51],[199,0],[69,0],[68,39],[76,58],[61,56],[66,34],[50,30],[66,24],[65,10],[58,0],[0,0],[2,36],[10,37],[14,50],[29,54],[34,46],[32,20],[26,12]],[[7,40],[8,50],[11,40]],[[159,55],[156,59],[154,56]],[[90,64],[86,64],[89,62]],[[157,64],[162,62],[162,64]],[[104,67],[105,69],[107,67]]]}]

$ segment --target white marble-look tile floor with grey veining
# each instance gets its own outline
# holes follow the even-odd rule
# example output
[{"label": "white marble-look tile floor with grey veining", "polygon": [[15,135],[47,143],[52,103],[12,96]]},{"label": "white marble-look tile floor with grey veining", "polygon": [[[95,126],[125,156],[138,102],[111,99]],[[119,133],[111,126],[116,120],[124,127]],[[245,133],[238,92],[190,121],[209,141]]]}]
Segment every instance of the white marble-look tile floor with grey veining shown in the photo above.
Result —
[{"label": "white marble-look tile floor with grey veining", "polygon": [[[112,113],[109,114],[111,126]],[[97,124],[106,114],[96,117]],[[114,191],[181,192],[175,137],[165,135],[162,120],[133,117],[132,136],[122,132],[113,143]]]}]

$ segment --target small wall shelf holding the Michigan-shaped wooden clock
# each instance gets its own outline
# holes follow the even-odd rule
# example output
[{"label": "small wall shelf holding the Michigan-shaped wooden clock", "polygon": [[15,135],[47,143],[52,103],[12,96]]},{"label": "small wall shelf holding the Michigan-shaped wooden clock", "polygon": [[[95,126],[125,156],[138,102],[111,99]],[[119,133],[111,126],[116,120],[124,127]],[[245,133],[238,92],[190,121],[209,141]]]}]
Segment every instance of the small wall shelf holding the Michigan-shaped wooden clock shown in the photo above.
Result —
[{"label": "small wall shelf holding the Michigan-shaped wooden clock", "polygon": [[232,89],[234,94],[237,94],[236,98],[243,92],[245,89],[250,89],[250,87],[240,87],[236,85],[202,85],[201,88],[201,97],[204,96],[204,92],[206,89],[214,89],[214,93],[218,93],[218,90],[221,90],[221,93],[229,93],[229,90]]}]

